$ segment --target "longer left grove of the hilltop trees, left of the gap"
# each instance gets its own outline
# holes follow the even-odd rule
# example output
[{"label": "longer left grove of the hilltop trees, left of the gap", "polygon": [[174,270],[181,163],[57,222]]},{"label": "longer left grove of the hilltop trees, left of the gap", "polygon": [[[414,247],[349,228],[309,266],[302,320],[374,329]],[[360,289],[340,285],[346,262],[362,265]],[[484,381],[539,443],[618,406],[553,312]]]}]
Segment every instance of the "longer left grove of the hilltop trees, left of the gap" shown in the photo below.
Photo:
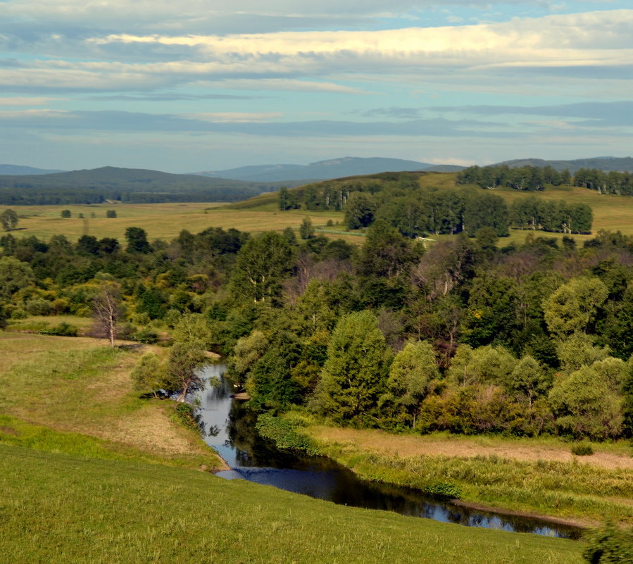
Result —
[{"label": "longer left grove of the hilltop trees, left of the gap", "polygon": [[558,170],[539,166],[510,168],[508,165],[470,166],[457,175],[457,184],[477,184],[482,188],[507,186],[515,190],[542,190],[545,184],[570,185],[572,177],[569,170]]}]

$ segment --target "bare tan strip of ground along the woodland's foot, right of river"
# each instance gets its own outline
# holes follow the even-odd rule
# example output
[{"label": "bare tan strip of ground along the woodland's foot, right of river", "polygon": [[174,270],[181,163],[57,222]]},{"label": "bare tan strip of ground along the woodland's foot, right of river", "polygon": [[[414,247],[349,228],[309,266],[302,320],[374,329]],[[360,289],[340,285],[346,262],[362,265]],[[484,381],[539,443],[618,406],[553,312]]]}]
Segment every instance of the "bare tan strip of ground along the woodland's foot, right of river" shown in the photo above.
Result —
[{"label": "bare tan strip of ground along the woodland's foot, right of river", "polygon": [[616,468],[633,470],[633,457],[626,454],[596,452],[592,456],[574,456],[570,447],[547,444],[527,444],[527,441],[501,441],[496,444],[491,441],[485,444],[485,440],[479,437],[458,438],[447,437],[411,437],[394,435],[376,430],[339,429],[337,427],[315,426],[310,428],[310,434],[315,439],[336,441],[337,443],[352,443],[361,449],[378,451],[397,455],[401,458],[413,456],[459,456],[468,458],[472,456],[499,456],[514,460],[554,460],[558,462],[572,462],[579,460],[582,463],[591,464],[608,470]]}]

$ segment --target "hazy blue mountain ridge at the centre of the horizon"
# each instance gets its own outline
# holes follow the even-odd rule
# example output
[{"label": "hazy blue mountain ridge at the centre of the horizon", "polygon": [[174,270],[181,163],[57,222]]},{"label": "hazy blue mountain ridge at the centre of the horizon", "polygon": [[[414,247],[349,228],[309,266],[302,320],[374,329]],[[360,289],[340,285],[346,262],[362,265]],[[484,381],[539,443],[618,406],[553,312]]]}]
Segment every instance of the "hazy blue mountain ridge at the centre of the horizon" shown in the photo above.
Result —
[{"label": "hazy blue mountain ridge at the centre of the horizon", "polygon": [[309,165],[253,165],[227,170],[208,170],[195,174],[206,177],[232,178],[246,182],[310,182],[312,180],[330,180],[384,172],[398,173],[405,170],[432,170],[452,173],[462,169],[462,166],[432,165],[418,161],[405,161],[401,158],[343,157],[333,158],[330,161],[318,161]]}]

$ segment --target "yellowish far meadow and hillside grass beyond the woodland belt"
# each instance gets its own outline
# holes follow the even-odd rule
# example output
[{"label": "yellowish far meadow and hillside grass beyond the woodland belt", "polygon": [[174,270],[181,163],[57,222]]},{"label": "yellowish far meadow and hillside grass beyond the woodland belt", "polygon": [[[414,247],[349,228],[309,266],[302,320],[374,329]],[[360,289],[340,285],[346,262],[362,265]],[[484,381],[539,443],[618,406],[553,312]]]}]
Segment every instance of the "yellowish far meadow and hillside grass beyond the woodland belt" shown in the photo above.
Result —
[{"label": "yellowish far meadow and hillside grass beyond the woodland belt", "polygon": [[[433,187],[439,190],[455,190],[454,173],[427,173],[421,175],[421,187]],[[481,188],[472,186],[472,189]],[[519,192],[511,188],[499,187],[494,194],[501,196],[509,204],[515,199],[527,196],[547,200],[565,200],[569,203],[585,203],[594,211],[594,227],[591,235],[575,234],[572,237],[582,242],[590,239],[599,230],[621,231],[633,235],[633,198],[598,194],[582,187],[548,187],[543,192]],[[61,218],[61,211],[68,209],[71,218]],[[113,209],[116,218],[106,218],[106,211]],[[94,237],[114,237],[124,240],[125,229],[130,226],[142,227],[149,239],[173,239],[182,229],[192,233],[201,232],[208,227],[234,227],[241,231],[262,232],[266,230],[283,230],[286,227],[299,227],[303,218],[310,218],[315,226],[325,226],[328,221],[334,224],[333,229],[344,230],[344,213],[336,211],[280,211],[277,208],[277,193],[255,196],[239,203],[103,203],[92,205],[64,206],[19,206],[16,208],[20,216],[15,236],[35,235],[48,239],[54,234],[64,234],[68,239],[76,241],[82,234]],[[79,218],[79,214],[84,219]],[[94,215],[94,217],[92,217]],[[520,244],[529,232],[510,230],[510,236],[499,243]],[[544,237],[563,237],[562,233],[535,232]],[[328,237],[342,238],[352,244],[362,244],[362,237],[351,235],[326,234]],[[450,235],[430,235],[432,239],[446,240]]]}]

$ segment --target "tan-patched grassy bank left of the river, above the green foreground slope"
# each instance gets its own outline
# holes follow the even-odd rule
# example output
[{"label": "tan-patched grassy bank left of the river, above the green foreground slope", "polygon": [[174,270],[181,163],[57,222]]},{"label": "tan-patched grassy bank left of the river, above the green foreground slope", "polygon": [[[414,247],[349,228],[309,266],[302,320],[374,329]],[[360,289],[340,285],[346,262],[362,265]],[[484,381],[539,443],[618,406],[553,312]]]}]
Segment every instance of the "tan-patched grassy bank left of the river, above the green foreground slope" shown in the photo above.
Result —
[{"label": "tan-patched grassy bank left of the river, above the green foreground slope", "polygon": [[0,443],[99,458],[221,468],[168,401],[141,399],[130,371],[143,348],[0,334]]}]

